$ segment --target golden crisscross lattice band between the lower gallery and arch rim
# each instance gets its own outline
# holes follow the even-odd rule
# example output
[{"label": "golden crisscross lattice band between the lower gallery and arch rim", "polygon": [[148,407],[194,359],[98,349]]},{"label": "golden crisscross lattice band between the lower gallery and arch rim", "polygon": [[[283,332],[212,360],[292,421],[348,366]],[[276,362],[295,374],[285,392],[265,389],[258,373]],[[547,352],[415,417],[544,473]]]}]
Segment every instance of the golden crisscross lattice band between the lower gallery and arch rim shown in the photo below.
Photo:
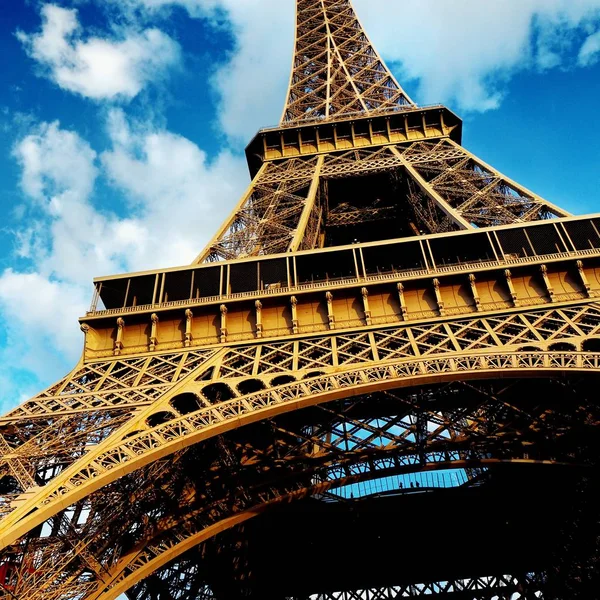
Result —
[{"label": "golden crisscross lattice band between the lower gallery and arch rim", "polygon": [[[406,324],[401,327],[384,327],[371,333],[331,332],[306,337],[298,342],[265,341],[245,345],[233,344],[220,349],[183,352],[178,360],[173,360],[172,354],[167,354],[165,358],[160,355],[152,359],[144,358],[141,363],[147,366],[156,365],[162,368],[166,364],[173,364],[169,375],[171,383],[162,397],[145,398],[144,402],[136,400],[135,403],[130,404],[127,400],[117,403],[111,396],[105,406],[96,407],[88,429],[81,427],[81,423],[85,421],[78,421],[83,413],[76,415],[67,413],[66,423],[73,424],[72,432],[66,427],[57,428],[55,421],[48,423],[48,412],[39,414],[41,424],[38,424],[34,419],[36,413],[30,411],[29,405],[25,404],[15,411],[12,418],[9,415],[4,423],[6,425],[13,423],[13,427],[34,423],[41,433],[31,441],[19,440],[19,437],[14,435],[9,437],[13,452],[11,458],[7,460],[10,464],[10,461],[14,461],[19,455],[26,456],[31,464],[31,477],[33,477],[35,473],[44,469],[43,461],[47,452],[55,450],[57,455],[61,455],[62,448],[59,446],[66,444],[66,447],[72,450],[71,459],[67,463],[61,463],[62,467],[66,467],[75,460],[76,456],[82,456],[75,453],[75,448],[79,447],[80,453],[85,454],[123,423],[129,422],[129,431],[147,430],[147,425],[144,424],[146,417],[136,417],[135,420],[139,424],[133,425],[128,411],[136,409],[143,411],[144,415],[148,411],[158,413],[163,410],[159,408],[160,406],[163,406],[164,410],[172,411],[169,399],[180,386],[191,385],[199,392],[202,402],[211,406],[214,398],[202,391],[203,387],[212,385],[211,381],[229,381],[228,393],[237,397],[239,394],[237,387],[241,385],[239,382],[245,380],[260,380],[263,382],[262,385],[268,388],[277,376],[306,378],[314,377],[317,371],[328,377],[329,374],[333,375],[340,369],[351,370],[360,367],[367,370],[379,369],[381,364],[388,362],[398,364],[402,373],[427,373],[429,370],[452,372],[459,371],[461,368],[481,369],[486,367],[486,363],[480,361],[476,356],[477,353],[498,351],[511,353],[522,347],[531,348],[531,344],[543,350],[561,341],[569,341],[570,347],[576,348],[582,340],[594,337],[599,332],[600,310],[593,304],[585,304],[463,320],[449,319],[446,323],[434,322],[429,325]],[[460,354],[457,355],[457,352]],[[474,353],[473,359],[468,359],[469,353]],[[452,362],[423,362],[428,358],[437,360],[437,357],[444,355],[453,356]],[[573,364],[584,364],[584,362],[592,364],[589,363],[588,358],[584,358],[587,356],[589,355],[582,354],[580,358],[573,359]],[[119,365],[124,360],[116,358],[115,364]],[[536,359],[531,364],[538,364],[540,360]],[[461,367],[461,363],[456,361],[463,361],[465,366]],[[130,362],[138,364],[140,359],[132,358]],[[541,364],[544,364],[543,360]],[[522,366],[526,367],[526,364]],[[114,372],[115,369],[116,367],[107,370]],[[135,372],[137,373],[135,378],[127,379],[129,377],[127,375],[126,379],[132,383],[142,381],[143,372],[137,369]],[[208,382],[207,373],[210,379]],[[79,372],[75,372],[74,380],[78,379],[81,379]],[[105,381],[110,389],[114,387],[112,381]],[[326,391],[329,384],[327,379],[317,379],[312,385],[314,390]],[[132,388],[132,391],[135,391],[135,388]],[[84,392],[84,397],[87,393]],[[73,393],[70,384],[63,383],[61,386],[51,388],[51,391],[45,394],[48,395],[50,402],[54,402],[55,397],[61,402],[63,397],[72,403],[78,401],[77,394]],[[261,405],[259,396],[257,396],[257,407]],[[40,402],[42,405],[39,404]],[[40,406],[43,406],[43,402],[46,402],[46,399],[36,399],[32,401],[31,407],[36,407],[37,411]],[[108,417],[102,417],[103,411],[110,413]],[[111,422],[113,418],[117,420]],[[25,432],[30,428],[28,426]],[[192,426],[192,430],[194,429],[196,426]],[[59,432],[62,433],[60,439],[54,435]],[[142,443],[142,446],[144,445],[145,443]],[[22,448],[19,449],[19,446]],[[152,444],[148,446],[148,449],[151,448]],[[108,460],[107,464],[114,466],[112,459]],[[55,474],[57,475],[58,471]]]}]

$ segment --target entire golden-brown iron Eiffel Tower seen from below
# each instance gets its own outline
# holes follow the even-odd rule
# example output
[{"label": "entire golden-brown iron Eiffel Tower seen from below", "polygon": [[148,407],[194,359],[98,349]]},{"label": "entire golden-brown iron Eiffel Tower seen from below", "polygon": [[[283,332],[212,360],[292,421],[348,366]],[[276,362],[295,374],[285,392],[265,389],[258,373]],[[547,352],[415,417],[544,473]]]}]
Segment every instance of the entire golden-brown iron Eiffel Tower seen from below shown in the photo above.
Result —
[{"label": "entire golden-brown iron Eiffel Tower seen from below", "polygon": [[0,419],[1,598],[598,597],[600,217],[461,132],[297,0],[231,216],[96,279],[79,364]]}]

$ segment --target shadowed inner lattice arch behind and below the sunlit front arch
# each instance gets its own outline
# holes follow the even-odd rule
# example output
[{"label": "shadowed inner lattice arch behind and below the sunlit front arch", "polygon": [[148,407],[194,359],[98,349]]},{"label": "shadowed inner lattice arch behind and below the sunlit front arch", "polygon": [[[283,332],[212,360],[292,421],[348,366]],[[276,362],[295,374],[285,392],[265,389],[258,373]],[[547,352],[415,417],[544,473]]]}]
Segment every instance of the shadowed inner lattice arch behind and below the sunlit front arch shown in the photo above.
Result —
[{"label": "shadowed inner lattice arch behind and below the sunlit front arch", "polygon": [[[119,585],[118,589],[122,590],[123,586],[127,588],[130,585],[135,585],[135,582],[140,578],[143,579],[148,576],[152,572],[151,569],[155,567],[157,569],[162,568],[163,563],[166,564],[175,560],[188,549],[186,541],[189,536],[196,533],[202,534],[206,530],[206,534],[202,535],[207,537],[200,535],[200,538],[198,538],[198,543],[201,543],[213,535],[211,532],[220,533],[229,526],[239,524],[236,519],[230,519],[230,517],[244,514],[246,511],[250,511],[249,514],[251,515],[255,513],[262,514],[268,511],[270,507],[301,499],[313,493],[331,493],[331,491],[341,489],[345,485],[364,483],[392,475],[426,474],[444,469],[470,469],[473,473],[478,470],[500,468],[501,465],[504,465],[503,468],[517,465],[527,465],[532,468],[536,465],[543,465],[545,468],[550,465],[558,467],[564,464],[570,466],[571,472],[573,472],[572,467],[579,465],[569,460],[569,457],[561,457],[560,445],[557,445],[554,450],[547,446],[547,440],[551,439],[549,434],[553,431],[552,423],[555,422],[557,417],[561,418],[562,411],[555,412],[556,407],[551,408],[555,412],[555,416],[548,419],[549,406],[543,401],[543,398],[546,397],[544,396],[544,390],[547,392],[549,388],[554,388],[557,384],[564,385],[567,380],[564,380],[560,375],[560,373],[553,373],[549,376],[548,381],[542,384],[542,382],[534,381],[529,377],[506,381],[503,374],[496,373],[494,377],[482,381],[476,381],[475,379],[453,383],[430,381],[420,386],[397,386],[381,392],[367,392],[362,396],[350,395],[337,400],[314,404],[307,410],[297,410],[293,421],[290,421],[290,411],[281,413],[275,419],[257,421],[254,425],[250,425],[250,428],[247,429],[241,439],[236,430],[231,430],[228,436],[219,436],[219,439],[207,438],[205,442],[188,448],[188,454],[191,454],[192,460],[202,458],[200,463],[188,462],[184,463],[182,467],[181,459],[182,457],[185,459],[187,451],[178,453],[172,458],[156,461],[156,463],[144,467],[143,475],[132,473],[131,477],[125,476],[123,478],[125,482],[129,479],[132,484],[142,480],[148,482],[148,491],[145,493],[149,493],[148,501],[150,503],[146,503],[145,510],[149,512],[146,513],[144,510],[136,509],[135,513],[132,513],[136,515],[135,519],[132,520],[132,515],[129,515],[127,523],[133,525],[135,529],[145,523],[143,526],[148,528],[150,537],[144,537],[143,543],[137,547],[130,547],[125,544],[121,554],[123,560],[118,564],[111,566],[110,561],[109,563],[98,563],[106,564],[106,566],[100,577],[104,587],[96,590],[99,594],[97,597],[102,600],[112,598],[113,581],[114,585]],[[569,415],[572,414],[570,407],[575,410],[575,403],[572,400],[577,397],[588,397],[588,390],[591,389],[590,382],[585,383],[580,378],[576,378],[576,380],[578,381],[577,389],[567,386],[570,391],[567,394],[560,395],[560,406],[565,407]],[[546,388],[543,385],[546,385]],[[516,390],[510,391],[513,388],[516,388]],[[540,393],[537,395],[528,393],[532,388],[539,390]],[[474,390],[476,391],[475,395],[473,395]],[[456,392],[463,395],[456,396]],[[583,395],[580,392],[583,392]],[[503,396],[505,394],[508,394],[508,396]],[[477,399],[478,395],[479,400]],[[484,395],[488,404],[486,412],[480,413],[482,410],[481,398]],[[521,402],[519,399],[523,399],[523,406],[520,406],[520,404],[516,407],[511,406],[511,398],[517,399],[518,404]],[[593,395],[589,396],[588,399],[587,405],[595,407],[592,401]],[[382,404],[382,402],[385,404]],[[449,402],[452,403],[451,406],[448,405]],[[582,407],[586,404],[578,403],[576,406]],[[446,410],[444,407],[446,407]],[[465,408],[467,412],[465,412]],[[535,408],[537,412],[531,412],[530,414],[532,408]],[[382,409],[387,412],[382,412]],[[594,410],[592,408],[592,412]],[[600,410],[600,407],[598,410]],[[502,411],[508,411],[508,413]],[[418,430],[410,430],[404,435],[399,431],[397,426],[399,421],[394,415],[404,415],[402,417],[404,423],[410,426],[411,423],[418,423],[418,415],[424,412],[427,413],[427,419],[425,422],[421,421],[421,433],[418,433]],[[584,409],[583,412],[579,411],[582,419],[583,415],[588,413],[591,414],[589,409]],[[486,420],[486,414],[492,414],[494,418]],[[389,427],[384,423],[385,415],[389,415]],[[518,426],[516,426],[515,417],[519,419],[520,424]],[[545,418],[540,420],[540,417]],[[360,440],[365,440],[365,436],[359,433],[355,437],[359,441],[351,447],[347,447],[343,442],[332,445],[328,441],[330,439],[328,432],[336,429],[339,431],[337,424],[340,419],[345,419],[349,428],[357,427],[357,424],[363,423],[363,433],[368,433],[371,422],[377,419],[379,430],[372,433],[373,435],[383,436],[383,439],[380,442],[373,443],[366,441],[360,445]],[[521,419],[526,419],[527,422],[521,422]],[[528,426],[529,422],[535,426]],[[309,423],[311,424],[310,435],[312,438],[307,439],[306,444],[298,451],[296,448],[297,432],[306,431],[305,426]],[[274,429],[270,429],[272,424],[275,425]],[[282,429],[282,427],[287,430]],[[546,429],[547,431],[545,431]],[[283,470],[274,472],[272,470],[273,463],[270,461],[269,456],[266,457],[264,467],[261,467],[261,463],[256,463],[253,459],[260,459],[261,454],[264,452],[263,446],[259,445],[257,447],[255,444],[250,444],[251,447],[255,448],[254,454],[246,455],[246,458],[250,459],[249,468],[252,473],[256,472],[258,477],[255,478],[253,475],[250,480],[242,478],[239,481],[245,483],[239,487],[239,484],[235,483],[238,480],[232,479],[231,481],[235,483],[234,488],[228,486],[219,488],[219,481],[228,480],[227,464],[235,464],[229,462],[228,456],[231,456],[230,452],[234,449],[236,440],[240,443],[238,448],[242,451],[247,448],[244,441],[255,439],[257,436],[260,438],[265,432],[268,433],[269,431],[278,440],[283,440],[282,443],[287,443],[289,448],[288,451],[282,453],[278,447],[270,456],[275,457],[277,460],[289,456],[292,461],[288,461],[289,468],[286,467]],[[388,432],[390,432],[390,435],[386,437]],[[445,435],[445,433],[454,433],[454,435]],[[423,435],[428,435],[428,438],[424,439]],[[469,437],[475,444],[472,447],[467,444]],[[421,442],[415,445],[415,442],[419,439]],[[227,440],[231,443],[227,443]],[[320,446],[320,440],[322,440],[322,446]],[[519,440],[526,443],[522,444]],[[536,446],[536,440],[540,442],[539,446]],[[484,441],[485,445],[482,445]],[[271,442],[267,440],[269,447],[270,444]],[[304,454],[306,450],[310,453],[313,448],[314,455]],[[506,454],[506,448],[510,448],[509,455]],[[213,457],[219,456],[219,461],[221,461],[221,457],[224,457],[223,466],[216,470],[209,468],[211,463],[205,462],[204,457],[208,456],[209,460],[213,460],[210,458],[211,455]],[[417,462],[415,462],[415,459]],[[155,476],[152,475],[152,470],[155,473],[157,472],[154,465],[160,462],[166,467],[166,470],[163,471],[166,479],[163,481],[155,479]],[[186,464],[187,466],[185,466]],[[189,493],[185,489],[181,489],[179,495],[183,500],[180,508],[185,512],[180,513],[177,505],[171,506],[164,512],[165,527],[161,525],[160,520],[155,523],[153,519],[156,517],[153,515],[158,507],[170,505],[154,504],[151,501],[154,497],[152,489],[157,486],[162,488],[163,486],[172,485],[168,482],[177,480],[177,476],[173,479],[172,472],[176,473],[178,465],[180,465],[180,473],[192,474],[192,481],[194,474],[205,473],[206,477],[210,478],[210,473],[214,473],[214,482],[217,483],[217,489],[221,489],[225,495],[223,500],[220,500],[219,496],[211,494],[212,501],[208,503],[202,500],[200,504],[192,503],[188,505],[185,498],[190,497]],[[233,473],[237,473],[237,471],[233,471]],[[276,479],[273,479],[272,473],[278,473]],[[290,474],[292,479],[289,478]],[[204,498],[202,490],[205,486],[206,477],[203,476],[199,480],[202,486],[198,490],[199,498]],[[113,489],[119,488],[113,486]],[[213,485],[209,482],[206,489],[213,489]],[[237,495],[235,495],[235,498],[237,498],[235,502],[230,497],[232,489],[238,490]],[[407,493],[416,491],[405,490]],[[193,489],[190,492],[193,492]],[[419,490],[419,493],[421,492]],[[109,493],[112,495],[114,492],[109,491]],[[122,501],[116,502],[116,504],[122,505]],[[263,507],[263,505],[265,506]],[[143,508],[143,506],[140,505],[138,508]],[[218,510],[218,513],[215,513],[216,510]],[[150,521],[145,520],[146,515],[150,517]],[[173,520],[174,515],[179,515],[179,521],[177,519]],[[115,515],[115,517],[120,519],[119,515]],[[211,520],[207,521],[207,518]],[[109,526],[109,523],[104,524],[104,527]],[[178,529],[179,526],[181,526],[180,529]],[[94,539],[94,535],[96,533],[92,529],[87,539]],[[84,542],[86,538],[82,537],[80,539]],[[99,555],[98,558],[101,559],[102,556]],[[85,567],[85,563],[82,564]],[[51,573],[52,566],[49,565],[49,567]],[[138,573],[138,568],[144,570]],[[127,581],[121,582],[121,579]],[[41,583],[39,580],[36,581],[35,586],[37,587],[34,586],[33,591],[26,597],[31,600],[42,600],[44,595],[38,592]],[[45,593],[50,591],[47,588],[48,585],[48,583],[44,584]],[[57,592],[52,584],[50,584],[50,588],[53,593]],[[27,591],[29,592],[29,590]],[[86,599],[96,598],[96,596],[84,597]]]}]

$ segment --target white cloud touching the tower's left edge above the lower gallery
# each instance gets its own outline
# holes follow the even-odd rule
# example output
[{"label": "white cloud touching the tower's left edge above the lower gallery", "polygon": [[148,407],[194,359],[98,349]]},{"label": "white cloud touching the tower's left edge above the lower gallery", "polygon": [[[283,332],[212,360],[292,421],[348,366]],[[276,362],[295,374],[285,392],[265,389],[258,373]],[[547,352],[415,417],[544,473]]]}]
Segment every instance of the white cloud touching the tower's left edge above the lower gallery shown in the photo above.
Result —
[{"label": "white cloud touching the tower's left edge above the lower gallery", "polygon": [[113,149],[102,165],[140,213],[129,263],[149,269],[191,262],[247,185],[244,160],[224,152],[209,163],[188,139],[130,124],[120,110],[110,113],[108,129]]}]

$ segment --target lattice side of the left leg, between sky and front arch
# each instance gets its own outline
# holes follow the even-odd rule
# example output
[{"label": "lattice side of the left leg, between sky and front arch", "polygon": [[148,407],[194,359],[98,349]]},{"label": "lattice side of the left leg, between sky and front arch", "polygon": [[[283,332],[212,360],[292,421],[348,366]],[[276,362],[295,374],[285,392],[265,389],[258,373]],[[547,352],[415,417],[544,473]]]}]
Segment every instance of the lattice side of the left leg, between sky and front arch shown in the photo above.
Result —
[{"label": "lattice side of the left leg, between sky and front arch", "polygon": [[0,514],[45,485],[214,355],[196,350],[86,363],[0,419]]}]

